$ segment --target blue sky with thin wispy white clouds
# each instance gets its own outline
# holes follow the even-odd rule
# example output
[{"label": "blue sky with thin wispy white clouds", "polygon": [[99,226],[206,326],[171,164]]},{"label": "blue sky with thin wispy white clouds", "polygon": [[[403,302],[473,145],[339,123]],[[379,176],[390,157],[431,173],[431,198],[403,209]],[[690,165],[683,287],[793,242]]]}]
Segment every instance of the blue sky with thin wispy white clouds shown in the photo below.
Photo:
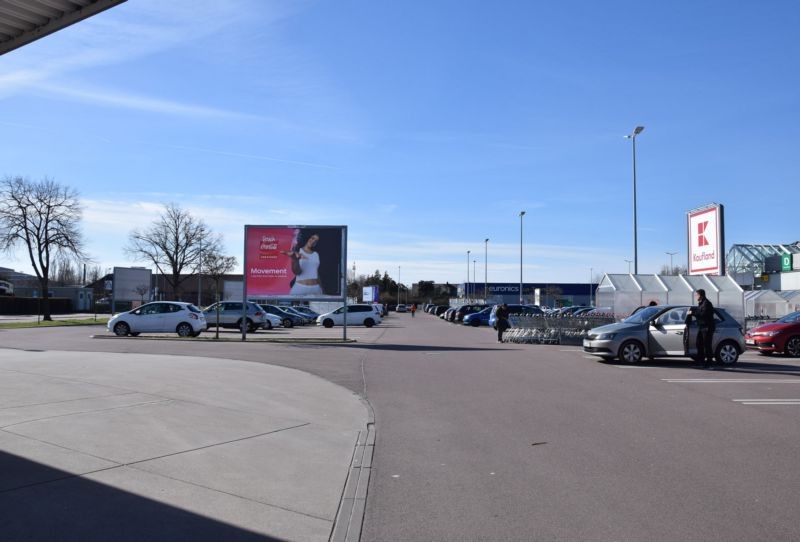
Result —
[{"label": "blue sky with thin wispy white clouds", "polygon": [[[80,191],[88,250],[174,202],[224,235],[346,224],[349,267],[401,280],[584,282],[797,224],[800,5],[129,0],[0,57],[2,175]],[[28,271],[24,253],[0,265]],[[472,265],[470,266],[473,267]]]}]

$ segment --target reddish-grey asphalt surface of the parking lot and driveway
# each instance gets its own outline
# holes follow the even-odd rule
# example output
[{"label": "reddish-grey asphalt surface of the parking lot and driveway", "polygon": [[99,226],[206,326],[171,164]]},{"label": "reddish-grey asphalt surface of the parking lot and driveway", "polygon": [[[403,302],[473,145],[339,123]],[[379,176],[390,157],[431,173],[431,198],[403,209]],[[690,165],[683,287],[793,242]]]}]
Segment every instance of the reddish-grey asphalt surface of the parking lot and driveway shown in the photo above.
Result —
[{"label": "reddish-grey asphalt surface of the parking lot and driveway", "polygon": [[362,540],[800,539],[800,360],[621,366],[575,347],[498,344],[427,314],[353,328],[358,342],[339,346],[42,331],[3,331],[0,343],[203,352],[366,396],[376,443]]}]

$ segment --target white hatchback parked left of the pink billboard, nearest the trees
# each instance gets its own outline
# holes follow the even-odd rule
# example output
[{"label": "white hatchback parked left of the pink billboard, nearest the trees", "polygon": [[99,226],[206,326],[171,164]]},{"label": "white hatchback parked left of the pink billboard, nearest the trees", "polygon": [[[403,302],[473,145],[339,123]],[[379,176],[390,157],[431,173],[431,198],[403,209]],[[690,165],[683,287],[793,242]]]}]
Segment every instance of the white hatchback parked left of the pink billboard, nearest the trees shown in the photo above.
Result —
[{"label": "white hatchback parked left of the pink billboard, nearest the trees", "polygon": [[132,311],[114,315],[108,331],[124,337],[139,333],[177,333],[179,337],[197,337],[208,327],[203,311],[191,303],[155,301]]}]

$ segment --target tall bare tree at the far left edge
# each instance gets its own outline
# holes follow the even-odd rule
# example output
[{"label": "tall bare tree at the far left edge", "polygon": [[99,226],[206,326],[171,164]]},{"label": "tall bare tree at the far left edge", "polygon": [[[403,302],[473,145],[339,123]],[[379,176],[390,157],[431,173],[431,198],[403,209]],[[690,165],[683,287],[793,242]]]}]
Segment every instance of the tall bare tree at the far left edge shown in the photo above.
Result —
[{"label": "tall bare tree at the far left edge", "polygon": [[78,192],[52,179],[6,177],[0,183],[0,250],[24,245],[42,291],[42,314],[50,316],[50,272],[57,257],[85,259]]}]

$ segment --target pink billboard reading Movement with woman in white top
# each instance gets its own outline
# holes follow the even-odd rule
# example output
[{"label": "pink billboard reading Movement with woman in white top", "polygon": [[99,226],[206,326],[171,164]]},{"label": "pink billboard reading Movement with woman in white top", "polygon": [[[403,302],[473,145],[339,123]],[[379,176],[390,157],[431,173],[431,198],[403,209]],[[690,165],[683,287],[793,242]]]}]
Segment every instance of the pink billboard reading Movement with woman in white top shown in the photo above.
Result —
[{"label": "pink billboard reading Movement with woman in white top", "polygon": [[245,226],[248,299],[342,299],[347,226]]}]

